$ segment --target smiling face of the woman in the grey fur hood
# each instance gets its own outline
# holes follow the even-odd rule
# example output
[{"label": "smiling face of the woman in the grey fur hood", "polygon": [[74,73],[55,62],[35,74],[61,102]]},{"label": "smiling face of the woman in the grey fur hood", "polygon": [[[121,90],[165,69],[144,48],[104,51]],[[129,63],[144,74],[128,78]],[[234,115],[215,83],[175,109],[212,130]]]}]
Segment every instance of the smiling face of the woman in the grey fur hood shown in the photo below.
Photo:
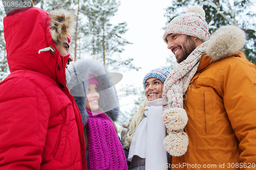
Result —
[{"label": "smiling face of the woman in the grey fur hood", "polygon": [[87,110],[93,112],[99,109],[98,100],[99,100],[99,93],[97,91],[96,84],[90,84],[88,86],[88,92],[86,93],[86,108]]}]

